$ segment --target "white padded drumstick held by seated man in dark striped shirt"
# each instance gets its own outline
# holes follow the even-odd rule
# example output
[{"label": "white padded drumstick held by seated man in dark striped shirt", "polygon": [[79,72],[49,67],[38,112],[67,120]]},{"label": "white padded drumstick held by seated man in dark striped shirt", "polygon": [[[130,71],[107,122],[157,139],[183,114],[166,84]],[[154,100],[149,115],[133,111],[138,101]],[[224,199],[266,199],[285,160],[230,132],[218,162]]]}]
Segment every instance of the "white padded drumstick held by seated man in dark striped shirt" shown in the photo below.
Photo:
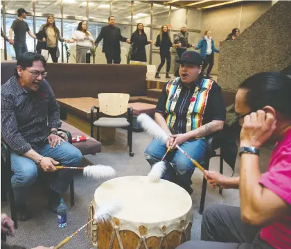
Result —
[{"label": "white padded drumstick held by seated man in dark striped shirt", "polygon": [[83,175],[87,178],[112,178],[116,175],[112,166],[105,165],[91,165],[87,167],[68,167],[68,166],[55,166],[56,169],[80,169],[84,170]]}]

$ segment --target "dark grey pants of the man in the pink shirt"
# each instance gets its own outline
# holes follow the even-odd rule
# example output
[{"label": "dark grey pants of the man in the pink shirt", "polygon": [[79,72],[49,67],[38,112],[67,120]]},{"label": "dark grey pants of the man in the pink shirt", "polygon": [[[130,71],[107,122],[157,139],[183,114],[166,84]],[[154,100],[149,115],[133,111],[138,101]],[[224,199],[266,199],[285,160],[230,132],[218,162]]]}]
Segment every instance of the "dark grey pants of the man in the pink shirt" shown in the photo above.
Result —
[{"label": "dark grey pants of the man in the pink shirt", "polygon": [[274,249],[258,236],[260,230],[241,221],[239,207],[213,205],[203,213],[202,241],[188,241],[177,249]]}]

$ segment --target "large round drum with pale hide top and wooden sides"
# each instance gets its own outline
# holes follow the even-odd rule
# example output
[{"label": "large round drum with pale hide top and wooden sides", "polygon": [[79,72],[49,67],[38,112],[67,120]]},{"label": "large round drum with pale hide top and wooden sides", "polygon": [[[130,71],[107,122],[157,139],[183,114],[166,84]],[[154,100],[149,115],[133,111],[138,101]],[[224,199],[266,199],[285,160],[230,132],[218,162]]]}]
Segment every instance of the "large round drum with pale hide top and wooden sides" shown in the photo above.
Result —
[{"label": "large round drum with pale hide top and wooden sides", "polygon": [[107,223],[93,223],[91,239],[98,249],[176,248],[190,240],[192,200],[173,182],[150,182],[146,176],[108,180],[96,189],[89,209],[113,200],[122,209]]}]

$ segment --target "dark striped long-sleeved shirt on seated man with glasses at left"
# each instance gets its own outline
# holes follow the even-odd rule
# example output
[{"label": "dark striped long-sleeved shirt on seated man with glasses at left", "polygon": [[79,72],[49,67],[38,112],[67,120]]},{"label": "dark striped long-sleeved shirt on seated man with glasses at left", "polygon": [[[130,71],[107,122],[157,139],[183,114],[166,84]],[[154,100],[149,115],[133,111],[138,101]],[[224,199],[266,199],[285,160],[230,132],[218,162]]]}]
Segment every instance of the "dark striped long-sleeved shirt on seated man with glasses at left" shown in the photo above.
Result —
[{"label": "dark striped long-sleeved shirt on seated man with glasses at left", "polygon": [[60,107],[46,80],[26,92],[12,76],[1,85],[1,138],[19,155],[39,148],[51,128],[60,127]]}]

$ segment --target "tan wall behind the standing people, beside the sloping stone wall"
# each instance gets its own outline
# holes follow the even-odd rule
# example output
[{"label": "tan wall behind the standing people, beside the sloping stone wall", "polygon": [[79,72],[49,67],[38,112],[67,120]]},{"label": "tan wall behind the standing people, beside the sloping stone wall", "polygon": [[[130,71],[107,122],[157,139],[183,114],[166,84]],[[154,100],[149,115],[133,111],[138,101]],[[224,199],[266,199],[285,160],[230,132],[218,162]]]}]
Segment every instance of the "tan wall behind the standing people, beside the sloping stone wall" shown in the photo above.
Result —
[{"label": "tan wall behind the standing people, beside the sloping stone wall", "polygon": [[[211,31],[215,46],[219,49],[220,42],[227,38],[233,28],[239,28],[242,33],[271,6],[272,1],[247,1],[213,10],[204,10],[200,38],[204,35],[204,31]],[[218,74],[218,58],[219,54],[215,53],[212,74]]]}]

